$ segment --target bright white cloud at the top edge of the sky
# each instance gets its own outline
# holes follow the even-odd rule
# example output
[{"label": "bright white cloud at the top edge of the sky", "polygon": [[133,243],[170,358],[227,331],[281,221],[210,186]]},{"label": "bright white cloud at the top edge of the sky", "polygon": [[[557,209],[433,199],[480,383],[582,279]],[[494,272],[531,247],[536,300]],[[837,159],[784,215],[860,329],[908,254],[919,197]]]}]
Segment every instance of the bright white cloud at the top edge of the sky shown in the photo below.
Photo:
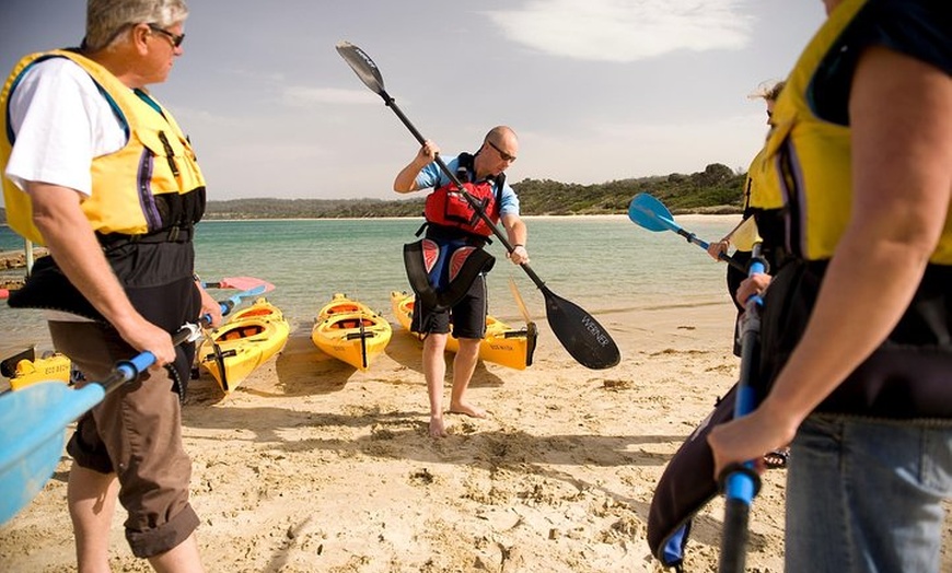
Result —
[{"label": "bright white cloud at the top edge of the sky", "polygon": [[532,0],[487,12],[513,42],[554,56],[628,62],[678,49],[740,49],[752,17],[740,0]]}]

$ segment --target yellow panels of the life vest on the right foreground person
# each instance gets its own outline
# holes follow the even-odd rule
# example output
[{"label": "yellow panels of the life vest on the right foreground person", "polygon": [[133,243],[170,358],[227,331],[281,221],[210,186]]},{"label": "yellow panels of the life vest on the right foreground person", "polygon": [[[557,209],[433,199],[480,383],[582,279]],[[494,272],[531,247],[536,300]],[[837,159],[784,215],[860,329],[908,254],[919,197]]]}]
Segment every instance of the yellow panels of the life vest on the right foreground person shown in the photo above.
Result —
[{"label": "yellow panels of the life vest on the right foreground person", "polygon": [[[786,209],[786,248],[805,260],[833,256],[852,202],[850,128],[814,114],[808,101],[811,82],[867,1],[839,4],[790,72],[774,106],[774,128],[764,151],[764,167],[776,174],[778,185],[764,186],[752,198],[763,209]],[[952,217],[930,262],[952,265]]]}]

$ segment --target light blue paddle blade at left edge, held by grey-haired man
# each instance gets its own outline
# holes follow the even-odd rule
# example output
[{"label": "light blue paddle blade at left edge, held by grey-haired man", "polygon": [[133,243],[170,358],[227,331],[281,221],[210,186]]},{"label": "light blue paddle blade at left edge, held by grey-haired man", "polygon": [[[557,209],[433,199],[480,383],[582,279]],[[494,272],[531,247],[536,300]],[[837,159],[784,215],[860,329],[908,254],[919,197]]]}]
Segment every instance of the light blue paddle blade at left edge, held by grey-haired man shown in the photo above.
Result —
[{"label": "light blue paddle blade at left edge, held by grey-haired man", "polygon": [[43,490],[62,455],[67,424],[103,396],[98,384],[74,390],[61,381],[0,396],[0,525]]}]

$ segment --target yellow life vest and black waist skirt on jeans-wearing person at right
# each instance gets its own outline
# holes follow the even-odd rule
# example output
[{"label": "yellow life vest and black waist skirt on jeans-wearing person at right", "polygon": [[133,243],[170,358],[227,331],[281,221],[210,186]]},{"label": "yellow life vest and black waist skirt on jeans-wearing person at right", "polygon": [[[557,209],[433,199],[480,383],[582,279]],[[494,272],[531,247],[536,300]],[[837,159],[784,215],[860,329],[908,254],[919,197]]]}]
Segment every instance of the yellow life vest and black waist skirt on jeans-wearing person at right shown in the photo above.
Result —
[{"label": "yellow life vest and black waist skirt on jeans-wearing person at right", "polygon": [[[752,202],[777,214],[779,230],[773,230],[771,239],[780,242],[785,262],[764,302],[755,384],[761,393],[768,391],[801,340],[828,262],[851,217],[850,127],[820,117],[814,104],[828,105],[832,100],[812,97],[817,78],[829,70],[849,81],[850,67],[832,60],[863,47],[854,45],[851,34],[861,31],[850,25],[866,25],[859,19],[871,1],[845,0],[833,11],[774,106],[775,127],[764,161],[776,172],[779,185],[762,187],[764,192],[753,196]],[[816,411],[892,419],[952,418],[950,302],[952,213],[947,214],[939,244],[897,325]]]}]

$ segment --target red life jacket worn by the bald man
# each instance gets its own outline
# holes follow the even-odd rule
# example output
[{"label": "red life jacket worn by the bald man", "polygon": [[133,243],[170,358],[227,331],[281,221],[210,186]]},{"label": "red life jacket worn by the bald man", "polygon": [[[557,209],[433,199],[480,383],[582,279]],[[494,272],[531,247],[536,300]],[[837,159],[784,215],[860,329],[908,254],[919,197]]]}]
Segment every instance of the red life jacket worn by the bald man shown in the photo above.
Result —
[{"label": "red life jacket worn by the bald man", "polygon": [[[500,173],[497,177],[479,183],[469,183],[474,175],[473,155],[461,153],[458,167],[456,168],[456,178],[463,183],[463,188],[466,189],[466,192],[483,207],[483,211],[496,224],[499,222],[499,203],[502,198],[502,185],[506,182],[506,174]],[[474,235],[490,236],[492,234],[492,229],[473,209],[469,201],[463,197],[463,194],[460,192],[458,187],[453,182],[434,189],[427,196],[423,215],[427,218],[427,223],[433,225],[458,229]]]}]

